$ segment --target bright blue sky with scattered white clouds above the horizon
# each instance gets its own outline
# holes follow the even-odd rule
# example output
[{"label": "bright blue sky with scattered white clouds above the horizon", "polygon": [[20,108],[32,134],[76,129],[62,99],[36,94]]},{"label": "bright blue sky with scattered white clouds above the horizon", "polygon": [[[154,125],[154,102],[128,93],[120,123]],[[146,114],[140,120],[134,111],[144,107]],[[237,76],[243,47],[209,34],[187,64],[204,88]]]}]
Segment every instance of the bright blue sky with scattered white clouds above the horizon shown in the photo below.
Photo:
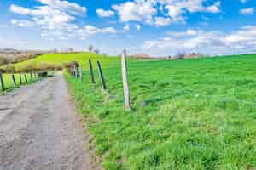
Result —
[{"label": "bright blue sky with scattered white clouds above the horizon", "polygon": [[167,56],[256,52],[255,0],[5,0],[0,48]]}]

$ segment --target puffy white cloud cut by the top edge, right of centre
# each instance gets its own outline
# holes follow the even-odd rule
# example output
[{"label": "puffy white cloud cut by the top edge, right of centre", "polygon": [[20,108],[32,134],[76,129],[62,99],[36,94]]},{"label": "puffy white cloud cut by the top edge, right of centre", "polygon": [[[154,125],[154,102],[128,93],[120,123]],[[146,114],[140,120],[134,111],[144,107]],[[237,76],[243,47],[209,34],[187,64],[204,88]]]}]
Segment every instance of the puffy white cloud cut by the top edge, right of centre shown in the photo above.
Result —
[{"label": "puffy white cloud cut by the top edge, right of centre", "polygon": [[[186,13],[220,12],[220,1],[204,6],[207,0],[135,0],[113,5],[122,22],[141,21],[149,25],[167,26],[184,22]],[[163,15],[159,15],[163,14]]]}]

